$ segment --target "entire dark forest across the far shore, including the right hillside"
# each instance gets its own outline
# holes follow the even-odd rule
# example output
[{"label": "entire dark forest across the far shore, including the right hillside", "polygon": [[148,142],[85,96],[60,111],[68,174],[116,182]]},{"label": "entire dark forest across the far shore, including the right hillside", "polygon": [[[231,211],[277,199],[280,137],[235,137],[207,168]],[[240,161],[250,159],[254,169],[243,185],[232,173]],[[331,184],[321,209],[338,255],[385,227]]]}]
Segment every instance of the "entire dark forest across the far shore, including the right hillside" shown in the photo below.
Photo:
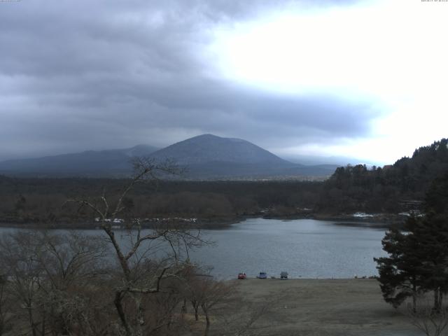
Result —
[{"label": "entire dark forest across the far shore, including the right hillside", "polygon": [[[325,182],[159,181],[127,195],[127,216],[216,220],[239,216],[397,214],[419,209],[430,182],[448,171],[448,141],[417,149],[394,165],[339,167]],[[0,176],[3,223],[91,221],[92,211],[62,207],[71,197],[105,193],[113,200],[127,179],[16,179]],[[304,210],[307,209],[307,210]],[[311,210],[308,210],[311,209]]]}]

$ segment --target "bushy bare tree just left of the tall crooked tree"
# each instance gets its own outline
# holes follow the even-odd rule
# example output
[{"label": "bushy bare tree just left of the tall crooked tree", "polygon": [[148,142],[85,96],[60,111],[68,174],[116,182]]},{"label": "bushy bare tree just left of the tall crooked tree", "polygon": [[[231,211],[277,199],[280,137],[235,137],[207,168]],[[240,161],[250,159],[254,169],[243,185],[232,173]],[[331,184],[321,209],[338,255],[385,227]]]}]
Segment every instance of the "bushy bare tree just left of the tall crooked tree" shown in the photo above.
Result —
[{"label": "bushy bare tree just left of the tall crooked tree", "polygon": [[62,335],[73,330],[92,334],[88,295],[97,297],[98,288],[89,286],[97,285],[99,276],[106,272],[104,241],[76,232],[44,232],[36,235],[36,246],[34,258],[43,269],[40,292],[48,328]]}]

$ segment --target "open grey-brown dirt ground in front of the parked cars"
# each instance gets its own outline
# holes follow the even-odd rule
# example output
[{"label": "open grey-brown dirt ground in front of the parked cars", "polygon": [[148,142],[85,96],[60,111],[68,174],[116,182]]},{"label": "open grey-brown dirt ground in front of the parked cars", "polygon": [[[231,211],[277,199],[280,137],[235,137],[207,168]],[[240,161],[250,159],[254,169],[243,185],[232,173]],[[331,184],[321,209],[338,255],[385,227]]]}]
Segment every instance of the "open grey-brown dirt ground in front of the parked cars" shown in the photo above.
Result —
[{"label": "open grey-brown dirt ground in front of the parked cars", "polygon": [[[235,284],[241,303],[249,307],[239,323],[246,323],[243,320],[251,317],[250,310],[258,314],[246,335],[423,335],[407,316],[383,301],[374,279],[245,279]],[[220,311],[220,315],[235,312],[237,321],[241,313],[232,309],[235,311]],[[221,334],[231,320],[214,321],[211,331],[221,329],[217,332]],[[235,332],[229,332],[232,334]]]}]

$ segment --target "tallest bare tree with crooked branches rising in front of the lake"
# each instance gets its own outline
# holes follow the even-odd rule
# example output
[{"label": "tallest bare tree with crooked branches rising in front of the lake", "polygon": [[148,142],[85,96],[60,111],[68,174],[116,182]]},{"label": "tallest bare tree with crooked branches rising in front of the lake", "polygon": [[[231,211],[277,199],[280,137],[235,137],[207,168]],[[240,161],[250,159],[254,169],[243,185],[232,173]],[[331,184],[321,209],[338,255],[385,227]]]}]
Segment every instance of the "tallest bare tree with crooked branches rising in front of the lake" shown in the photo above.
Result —
[{"label": "tallest bare tree with crooked branches rising in front of the lake", "polygon": [[[179,276],[183,268],[180,249],[188,250],[192,246],[204,243],[200,238],[200,232],[192,233],[185,228],[173,228],[169,225],[153,228],[153,230],[143,230],[139,219],[132,219],[126,223],[127,248],[125,244],[120,243],[113,227],[113,220],[125,210],[123,202],[130,190],[137,183],[158,181],[160,174],[162,176],[179,174],[179,169],[172,162],[160,164],[144,158],[134,160],[134,171],[134,177],[130,179],[114,205],[107,200],[105,193],[99,197],[99,200],[71,199],[67,201],[75,202],[80,207],[90,208],[99,218],[101,228],[113,246],[121,269],[113,302],[127,336],[142,335],[143,330],[148,328],[146,325],[148,318],[145,318],[145,309],[142,305],[143,296],[160,293],[163,279]],[[172,253],[162,262],[148,262],[148,255],[151,255],[148,252],[151,244],[148,243],[151,241],[165,242]],[[154,267],[155,265],[157,267]],[[130,302],[133,302],[133,307],[130,307]]]}]

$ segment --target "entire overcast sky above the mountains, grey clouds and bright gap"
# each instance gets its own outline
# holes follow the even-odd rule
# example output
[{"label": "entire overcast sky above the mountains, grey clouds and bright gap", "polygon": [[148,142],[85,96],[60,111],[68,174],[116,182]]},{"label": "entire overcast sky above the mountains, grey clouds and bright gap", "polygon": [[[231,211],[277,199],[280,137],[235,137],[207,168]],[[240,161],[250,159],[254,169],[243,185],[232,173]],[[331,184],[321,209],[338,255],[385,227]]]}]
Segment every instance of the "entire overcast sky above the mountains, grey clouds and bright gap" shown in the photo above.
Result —
[{"label": "entire overcast sky above the mountains, grey clouds and bright gap", "polygon": [[0,160],[238,137],[392,163],[447,137],[448,2],[0,1]]}]

